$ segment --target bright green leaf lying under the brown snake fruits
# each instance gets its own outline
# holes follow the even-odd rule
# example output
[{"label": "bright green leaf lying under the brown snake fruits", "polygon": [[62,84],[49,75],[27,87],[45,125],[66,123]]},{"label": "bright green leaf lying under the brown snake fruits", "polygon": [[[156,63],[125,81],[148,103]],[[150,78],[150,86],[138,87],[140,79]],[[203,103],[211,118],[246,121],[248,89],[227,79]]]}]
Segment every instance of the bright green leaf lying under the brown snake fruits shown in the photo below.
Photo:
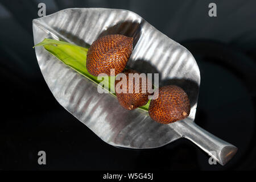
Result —
[{"label": "bright green leaf lying under the brown snake fruits", "polygon": [[[102,77],[101,79],[99,78],[98,80],[97,76],[90,75],[90,73],[87,71],[86,54],[88,52],[88,48],[53,39],[44,39],[42,42],[36,44],[34,47],[36,46],[44,46],[47,51],[49,51],[53,56],[61,60],[64,64],[75,69],[75,71],[79,72],[82,76],[88,78],[94,83],[101,83],[102,88],[108,90],[109,93],[115,96],[114,81],[111,81],[114,80],[114,78],[111,79],[111,77],[108,76]],[[149,104],[150,101],[148,101],[146,105],[139,108],[148,111]]]}]

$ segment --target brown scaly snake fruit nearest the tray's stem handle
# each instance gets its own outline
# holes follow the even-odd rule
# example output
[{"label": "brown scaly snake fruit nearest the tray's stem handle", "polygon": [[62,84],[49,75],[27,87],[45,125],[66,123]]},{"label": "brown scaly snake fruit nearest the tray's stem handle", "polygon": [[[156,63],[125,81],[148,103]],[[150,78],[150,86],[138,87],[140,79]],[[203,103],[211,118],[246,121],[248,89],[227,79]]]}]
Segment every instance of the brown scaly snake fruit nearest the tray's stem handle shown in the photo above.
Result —
[{"label": "brown scaly snake fruit nearest the tray's stem handle", "polygon": [[150,101],[148,114],[156,122],[173,123],[187,118],[190,104],[187,93],[179,86],[168,85],[159,88],[158,98]]}]

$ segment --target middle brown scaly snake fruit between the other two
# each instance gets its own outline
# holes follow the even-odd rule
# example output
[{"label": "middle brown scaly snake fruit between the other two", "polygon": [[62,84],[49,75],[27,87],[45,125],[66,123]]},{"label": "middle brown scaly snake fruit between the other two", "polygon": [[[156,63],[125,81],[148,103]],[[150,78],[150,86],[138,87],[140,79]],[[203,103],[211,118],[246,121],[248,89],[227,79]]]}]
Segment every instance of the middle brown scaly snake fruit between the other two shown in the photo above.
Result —
[{"label": "middle brown scaly snake fruit between the other two", "polygon": [[[147,82],[142,82],[142,79],[139,80],[139,85],[135,85],[135,79],[133,80],[133,85],[129,84],[129,73],[138,73],[133,69],[127,69],[123,72],[126,75],[126,80],[115,80],[115,94],[117,95],[117,100],[121,106],[127,110],[133,110],[137,107],[143,106],[148,102],[148,92],[147,92]],[[131,78],[131,77],[130,77]],[[126,87],[122,84],[122,89],[127,90],[127,93],[117,93],[117,83],[126,81]],[[147,81],[147,80],[146,80]],[[121,83],[120,83],[121,84]],[[133,88],[131,88],[133,86]],[[129,93],[129,88],[133,89],[133,93]],[[142,88],[146,89],[146,93],[142,93]],[[139,93],[135,93],[136,90],[139,90]]]}]

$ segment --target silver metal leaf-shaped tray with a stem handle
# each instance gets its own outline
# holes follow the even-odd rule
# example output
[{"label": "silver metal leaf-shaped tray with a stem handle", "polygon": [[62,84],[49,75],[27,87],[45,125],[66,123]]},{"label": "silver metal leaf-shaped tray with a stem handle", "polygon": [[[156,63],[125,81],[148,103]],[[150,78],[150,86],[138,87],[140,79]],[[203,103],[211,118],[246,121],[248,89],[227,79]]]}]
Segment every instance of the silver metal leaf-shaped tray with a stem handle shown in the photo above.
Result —
[{"label": "silver metal leaf-shaped tray with a stem handle", "polygon": [[[195,124],[200,71],[191,53],[141,16],[127,10],[65,9],[33,20],[35,44],[44,38],[89,46],[99,36],[133,36],[134,50],[128,67],[159,73],[160,85],[181,86],[191,100],[188,118],[169,125],[152,121],[146,111],[123,109],[111,94],[100,94],[97,85],[81,76],[43,47],[36,57],[56,100],[105,142],[126,148],[156,148],[185,137],[224,165],[236,153],[232,144],[214,137]],[[214,152],[216,156],[214,156]]]}]

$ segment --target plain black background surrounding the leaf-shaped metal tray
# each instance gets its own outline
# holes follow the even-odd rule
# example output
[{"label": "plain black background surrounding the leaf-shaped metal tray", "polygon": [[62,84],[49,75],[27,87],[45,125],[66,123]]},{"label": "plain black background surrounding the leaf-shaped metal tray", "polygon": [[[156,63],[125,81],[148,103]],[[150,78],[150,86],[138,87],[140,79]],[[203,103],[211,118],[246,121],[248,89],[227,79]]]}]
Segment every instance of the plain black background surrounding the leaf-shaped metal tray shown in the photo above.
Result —
[{"label": "plain black background surrounding the leaf-shaped metal tray", "polygon": [[[110,146],[61,107],[40,73],[32,35],[38,3],[47,15],[69,7],[126,9],[185,46],[201,72],[195,122],[234,144],[226,166],[188,140],[154,150]],[[208,16],[210,2],[217,17]],[[0,169],[255,169],[256,1],[0,1]],[[38,165],[38,151],[47,165]]]}]

